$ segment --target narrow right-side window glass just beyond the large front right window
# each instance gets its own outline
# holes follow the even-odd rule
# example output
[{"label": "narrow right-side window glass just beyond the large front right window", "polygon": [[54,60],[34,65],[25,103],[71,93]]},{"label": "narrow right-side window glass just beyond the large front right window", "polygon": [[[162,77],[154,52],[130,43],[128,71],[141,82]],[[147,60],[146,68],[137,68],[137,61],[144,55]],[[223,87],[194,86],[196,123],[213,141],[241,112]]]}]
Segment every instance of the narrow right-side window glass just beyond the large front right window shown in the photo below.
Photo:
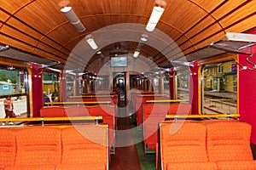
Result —
[{"label": "narrow right-side window glass just beyond the large front right window", "polygon": [[177,71],[177,99],[189,101],[189,69]]}]

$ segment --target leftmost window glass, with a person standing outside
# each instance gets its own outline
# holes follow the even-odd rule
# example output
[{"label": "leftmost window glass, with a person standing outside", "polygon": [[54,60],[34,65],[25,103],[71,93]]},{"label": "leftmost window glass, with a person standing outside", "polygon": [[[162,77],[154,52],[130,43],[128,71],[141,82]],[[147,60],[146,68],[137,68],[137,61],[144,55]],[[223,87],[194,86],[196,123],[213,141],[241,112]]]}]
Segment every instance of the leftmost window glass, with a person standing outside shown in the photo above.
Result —
[{"label": "leftmost window glass, with a person standing outside", "polygon": [[27,71],[14,67],[0,66],[0,117],[4,118],[3,100],[10,97],[17,117],[29,116]]}]

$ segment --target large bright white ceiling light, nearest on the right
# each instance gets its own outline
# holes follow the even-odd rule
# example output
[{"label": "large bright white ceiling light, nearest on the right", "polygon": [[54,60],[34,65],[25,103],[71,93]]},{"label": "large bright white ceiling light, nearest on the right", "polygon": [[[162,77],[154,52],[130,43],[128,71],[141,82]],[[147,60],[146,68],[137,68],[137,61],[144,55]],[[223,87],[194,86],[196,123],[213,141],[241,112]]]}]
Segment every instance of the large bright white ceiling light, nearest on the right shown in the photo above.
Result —
[{"label": "large bright white ceiling light, nearest on the right", "polygon": [[154,6],[150,18],[148,20],[148,25],[146,26],[147,31],[154,31],[155,26],[157,25],[158,21],[160,20],[161,15],[164,13],[165,8],[163,6],[166,5],[165,1],[156,1],[157,4]]}]

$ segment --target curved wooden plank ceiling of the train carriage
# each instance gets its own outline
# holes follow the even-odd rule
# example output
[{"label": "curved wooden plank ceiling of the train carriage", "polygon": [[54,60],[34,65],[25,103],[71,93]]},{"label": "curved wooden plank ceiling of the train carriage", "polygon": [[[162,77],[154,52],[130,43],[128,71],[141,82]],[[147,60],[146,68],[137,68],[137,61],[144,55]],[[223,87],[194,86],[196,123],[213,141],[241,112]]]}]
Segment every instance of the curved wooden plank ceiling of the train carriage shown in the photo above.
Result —
[{"label": "curved wooden plank ceiling of the train carriage", "polygon": [[[84,24],[84,32],[76,31],[61,13],[67,4]],[[145,26],[154,5],[154,0],[3,0],[0,42],[32,54],[35,60],[39,57],[96,72],[117,50],[116,44],[115,52],[132,55],[143,33],[148,41],[141,55],[162,66],[217,41],[226,32],[249,32],[256,27],[255,0],[166,0],[156,29],[148,32]],[[88,34],[94,37],[97,50],[85,41]],[[96,54],[98,50],[102,55]]]}]

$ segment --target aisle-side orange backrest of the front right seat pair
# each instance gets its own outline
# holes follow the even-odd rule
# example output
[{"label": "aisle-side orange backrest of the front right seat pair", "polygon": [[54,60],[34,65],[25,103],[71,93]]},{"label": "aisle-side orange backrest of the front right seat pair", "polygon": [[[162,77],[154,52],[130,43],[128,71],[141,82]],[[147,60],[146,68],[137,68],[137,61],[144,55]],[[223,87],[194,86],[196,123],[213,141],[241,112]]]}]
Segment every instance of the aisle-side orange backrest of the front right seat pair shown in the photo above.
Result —
[{"label": "aisle-side orange backrest of the front right seat pair", "polygon": [[173,122],[160,125],[162,169],[167,162],[208,161],[206,126],[201,122]]}]

